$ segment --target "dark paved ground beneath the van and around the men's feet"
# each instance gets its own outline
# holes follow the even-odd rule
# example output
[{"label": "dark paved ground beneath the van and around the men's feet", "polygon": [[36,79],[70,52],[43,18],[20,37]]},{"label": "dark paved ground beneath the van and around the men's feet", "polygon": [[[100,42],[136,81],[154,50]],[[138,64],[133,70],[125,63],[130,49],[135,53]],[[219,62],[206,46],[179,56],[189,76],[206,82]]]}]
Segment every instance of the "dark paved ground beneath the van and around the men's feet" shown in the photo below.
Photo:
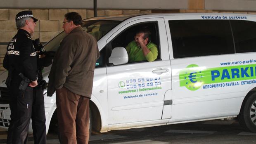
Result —
[{"label": "dark paved ground beneath the van and around the men's feet", "polygon": [[[52,132],[51,132],[52,133]],[[6,142],[0,130],[0,144]],[[235,120],[210,120],[130,130],[93,133],[90,144],[256,144],[256,133],[245,132]],[[28,144],[33,144],[30,135]],[[47,144],[59,144],[55,133],[47,135]]]}]

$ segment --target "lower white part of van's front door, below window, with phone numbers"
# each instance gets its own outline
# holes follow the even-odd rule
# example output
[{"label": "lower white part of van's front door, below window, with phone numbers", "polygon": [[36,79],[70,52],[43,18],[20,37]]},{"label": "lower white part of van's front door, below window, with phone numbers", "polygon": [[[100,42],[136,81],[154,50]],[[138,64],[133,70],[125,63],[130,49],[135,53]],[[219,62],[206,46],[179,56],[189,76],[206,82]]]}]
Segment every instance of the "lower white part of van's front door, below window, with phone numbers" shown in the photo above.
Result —
[{"label": "lower white part of van's front door, below window, with phone numbers", "polygon": [[[153,61],[107,67],[109,123],[160,120],[164,94],[171,89],[170,61]],[[136,69],[136,71],[134,71]]]}]

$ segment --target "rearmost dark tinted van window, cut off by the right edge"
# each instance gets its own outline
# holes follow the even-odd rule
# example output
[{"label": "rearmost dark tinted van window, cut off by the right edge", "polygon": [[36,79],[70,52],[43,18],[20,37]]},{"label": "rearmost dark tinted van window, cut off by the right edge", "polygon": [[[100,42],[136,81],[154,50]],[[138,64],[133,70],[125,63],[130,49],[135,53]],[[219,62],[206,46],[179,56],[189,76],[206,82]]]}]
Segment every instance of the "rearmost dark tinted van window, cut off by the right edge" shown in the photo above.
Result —
[{"label": "rearmost dark tinted van window, cut off by the right edge", "polygon": [[256,52],[256,22],[231,20],[237,53]]}]

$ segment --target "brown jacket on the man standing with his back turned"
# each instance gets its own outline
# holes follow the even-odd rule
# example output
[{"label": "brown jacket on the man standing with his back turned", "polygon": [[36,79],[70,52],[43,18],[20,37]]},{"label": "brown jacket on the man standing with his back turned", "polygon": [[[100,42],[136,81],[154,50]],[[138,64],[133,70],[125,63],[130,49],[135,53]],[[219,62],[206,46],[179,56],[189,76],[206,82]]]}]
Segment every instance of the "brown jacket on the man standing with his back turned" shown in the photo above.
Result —
[{"label": "brown jacket on the man standing with his back turned", "polygon": [[60,43],[49,78],[47,96],[63,86],[75,94],[91,98],[96,60],[100,57],[95,38],[81,26]]}]

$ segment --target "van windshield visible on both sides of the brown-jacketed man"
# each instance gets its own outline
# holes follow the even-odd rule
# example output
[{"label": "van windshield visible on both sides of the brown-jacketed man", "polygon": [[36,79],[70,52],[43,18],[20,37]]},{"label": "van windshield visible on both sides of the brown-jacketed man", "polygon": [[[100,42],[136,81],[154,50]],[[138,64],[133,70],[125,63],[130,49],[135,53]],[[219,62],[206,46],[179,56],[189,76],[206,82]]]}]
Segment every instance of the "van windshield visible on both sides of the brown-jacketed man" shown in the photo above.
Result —
[{"label": "van windshield visible on both sides of the brown-jacketed man", "polygon": [[[93,35],[98,41],[121,22],[122,21],[84,21],[82,27],[87,33]],[[65,36],[66,33],[62,31],[59,35],[45,44],[43,47],[44,50],[56,52],[59,48],[60,42]]]}]

